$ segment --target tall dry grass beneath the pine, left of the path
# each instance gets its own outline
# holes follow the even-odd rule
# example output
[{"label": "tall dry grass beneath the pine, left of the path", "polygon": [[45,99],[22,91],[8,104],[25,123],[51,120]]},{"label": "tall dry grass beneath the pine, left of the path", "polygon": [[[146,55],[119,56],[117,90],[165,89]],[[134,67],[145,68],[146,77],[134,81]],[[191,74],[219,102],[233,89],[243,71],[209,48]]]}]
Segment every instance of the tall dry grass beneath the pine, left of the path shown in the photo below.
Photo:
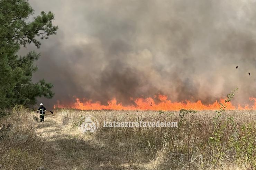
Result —
[{"label": "tall dry grass beneath the pine, left of the path", "polygon": [[47,148],[36,134],[38,121],[22,106],[0,119],[0,169],[35,169],[44,164]]}]

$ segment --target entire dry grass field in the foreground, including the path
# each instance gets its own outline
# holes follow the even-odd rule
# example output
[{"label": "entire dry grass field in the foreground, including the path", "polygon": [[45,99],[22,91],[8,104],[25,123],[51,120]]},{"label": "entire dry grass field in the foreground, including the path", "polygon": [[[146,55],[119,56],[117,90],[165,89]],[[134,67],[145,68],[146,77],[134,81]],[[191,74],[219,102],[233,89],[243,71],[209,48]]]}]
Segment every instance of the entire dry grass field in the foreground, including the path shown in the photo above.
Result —
[{"label": "entire dry grass field in the foreground, including the path", "polygon": [[[79,129],[84,115],[94,133]],[[256,111],[80,111],[57,109],[44,123],[22,109],[1,119],[0,169],[256,168]],[[178,121],[178,128],[103,127],[103,121]]]}]

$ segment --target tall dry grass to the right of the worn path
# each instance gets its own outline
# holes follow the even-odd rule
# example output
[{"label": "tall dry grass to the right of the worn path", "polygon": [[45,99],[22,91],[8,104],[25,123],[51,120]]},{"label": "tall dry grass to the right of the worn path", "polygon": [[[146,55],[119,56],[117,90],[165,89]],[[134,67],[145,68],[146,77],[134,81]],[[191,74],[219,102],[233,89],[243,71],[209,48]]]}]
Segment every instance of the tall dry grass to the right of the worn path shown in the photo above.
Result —
[{"label": "tall dry grass to the right of the worn path", "polygon": [[[217,122],[214,122],[216,113],[209,110],[184,115],[182,121],[176,111],[60,112],[63,126],[68,129],[77,129],[84,115],[95,117],[99,129],[94,134],[85,134],[85,138],[90,138],[96,148],[105,148],[104,154],[114,155],[120,164],[132,166],[131,169],[254,170],[256,167],[253,110],[224,111]],[[104,120],[180,123],[178,128],[109,128],[103,127]]]}]

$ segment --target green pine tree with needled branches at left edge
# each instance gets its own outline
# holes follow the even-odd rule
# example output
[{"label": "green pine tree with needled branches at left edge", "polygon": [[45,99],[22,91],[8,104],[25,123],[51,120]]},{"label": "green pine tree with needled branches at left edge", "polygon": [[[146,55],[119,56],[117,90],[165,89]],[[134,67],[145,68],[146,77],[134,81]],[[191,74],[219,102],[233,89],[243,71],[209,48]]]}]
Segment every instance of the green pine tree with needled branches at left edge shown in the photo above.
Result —
[{"label": "green pine tree with needled branches at left edge", "polygon": [[33,14],[27,0],[0,0],[0,113],[16,104],[34,105],[37,97],[54,95],[53,84],[44,79],[31,81],[39,54],[32,51],[25,56],[17,55],[20,46],[33,43],[39,48],[38,39],[48,39],[58,29],[52,25],[52,12],[42,11],[32,22],[26,22]]}]

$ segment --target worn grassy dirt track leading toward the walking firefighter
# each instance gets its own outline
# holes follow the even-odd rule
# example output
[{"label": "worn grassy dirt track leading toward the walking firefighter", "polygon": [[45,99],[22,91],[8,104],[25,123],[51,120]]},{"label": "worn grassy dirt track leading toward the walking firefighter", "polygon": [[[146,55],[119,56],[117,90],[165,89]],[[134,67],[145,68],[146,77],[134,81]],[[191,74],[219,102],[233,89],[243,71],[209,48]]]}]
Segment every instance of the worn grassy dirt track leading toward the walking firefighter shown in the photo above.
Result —
[{"label": "worn grassy dirt track leading toward the walking firefighter", "polygon": [[[46,115],[37,123],[37,134],[48,147],[45,164],[39,169],[130,169],[118,153],[95,142],[79,129],[62,126],[61,115]],[[132,168],[134,169],[134,168]]]}]

